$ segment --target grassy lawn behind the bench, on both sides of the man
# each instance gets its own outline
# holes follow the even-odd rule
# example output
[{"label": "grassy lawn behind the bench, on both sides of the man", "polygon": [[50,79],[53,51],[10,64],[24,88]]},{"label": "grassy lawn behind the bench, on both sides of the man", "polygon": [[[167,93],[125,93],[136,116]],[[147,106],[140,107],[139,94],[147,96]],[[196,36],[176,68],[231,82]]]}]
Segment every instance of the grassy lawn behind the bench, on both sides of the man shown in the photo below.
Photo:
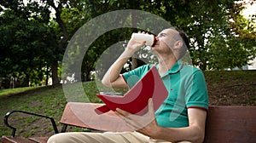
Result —
[{"label": "grassy lawn behind the bench, on both sides of the man", "polygon": [[[210,105],[221,106],[256,106],[256,71],[205,72]],[[75,97],[79,91],[73,89],[76,84],[67,85],[67,89]],[[90,102],[99,102],[96,93],[108,90],[97,85],[96,82],[83,83],[84,93]],[[125,89],[117,90],[125,92]],[[15,90],[0,90],[0,136],[10,135],[11,130],[3,123],[3,116],[11,110],[22,110],[54,117],[60,130],[61,113],[67,104],[62,85],[26,88]],[[14,125],[17,135],[49,136],[54,134],[48,120],[15,113],[10,117],[10,124]],[[83,131],[84,129],[69,128],[69,131]]]}]

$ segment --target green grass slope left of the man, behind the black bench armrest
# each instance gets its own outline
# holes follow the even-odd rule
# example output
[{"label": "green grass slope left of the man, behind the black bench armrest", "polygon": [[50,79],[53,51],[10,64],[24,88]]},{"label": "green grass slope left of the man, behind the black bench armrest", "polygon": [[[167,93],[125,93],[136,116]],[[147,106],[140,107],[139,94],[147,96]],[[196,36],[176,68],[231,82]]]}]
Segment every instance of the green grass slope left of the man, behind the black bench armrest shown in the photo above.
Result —
[{"label": "green grass slope left of the man, behind the black bench armrest", "polygon": [[[61,130],[61,124],[58,123],[58,121],[61,120],[62,111],[67,101],[77,101],[88,98],[90,99],[89,102],[100,102],[101,100],[96,97],[96,93],[99,92],[99,89],[104,91],[109,90],[102,88],[102,85],[97,85],[96,82],[83,83],[85,94],[81,96],[79,95],[79,90],[76,88],[77,85],[78,84],[67,84],[65,86],[68,92],[73,94],[72,99],[65,96],[61,84],[37,89],[22,88],[9,89],[8,92],[6,92],[7,90],[2,91],[2,97],[0,97],[0,136],[11,134],[11,129],[7,128],[3,123],[3,116],[6,112],[21,110],[54,117],[58,129]],[[125,92],[126,90],[121,89],[117,91]],[[18,129],[17,135],[28,137],[38,135],[49,136],[54,134],[51,123],[44,118],[27,116],[22,113],[14,113],[13,116],[9,118],[9,123],[15,125]],[[87,129],[78,128],[71,128],[70,130],[88,131]]]}]

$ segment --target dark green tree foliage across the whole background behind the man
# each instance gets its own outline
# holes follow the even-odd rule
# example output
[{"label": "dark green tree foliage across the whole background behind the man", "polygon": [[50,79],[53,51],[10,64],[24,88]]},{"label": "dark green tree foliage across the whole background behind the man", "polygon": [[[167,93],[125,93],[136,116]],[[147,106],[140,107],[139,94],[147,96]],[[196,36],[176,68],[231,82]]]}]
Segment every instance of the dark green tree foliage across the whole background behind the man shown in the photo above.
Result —
[{"label": "dark green tree foliage across the whole background behind the man", "polygon": [[[202,70],[223,70],[224,68],[247,65],[256,56],[255,14],[247,20],[241,15],[243,3],[222,1],[152,1],[152,0],[108,0],[108,1],[29,1],[0,2],[0,79],[22,80],[23,84],[41,84],[50,75],[59,75],[62,56],[68,40],[89,20],[98,15],[118,9],[139,9],[157,14],[172,26],[185,31],[190,38],[193,64]],[[254,3],[254,2],[251,2]],[[55,16],[50,17],[50,9]],[[131,14],[126,19],[132,26],[144,26],[150,19]],[[109,22],[113,18],[109,18]],[[157,20],[155,20],[157,21]],[[157,24],[156,24],[157,25]],[[164,27],[148,27],[143,31],[160,31]],[[94,30],[95,32],[97,29]],[[137,29],[124,28],[109,31],[98,37],[84,54],[82,81],[90,80],[96,62],[109,46],[131,37]],[[141,31],[141,30],[140,30]],[[87,35],[90,35],[87,31]],[[82,38],[82,37],[81,37]],[[77,53],[70,53],[73,64],[83,47],[76,47]],[[108,54],[108,51],[106,51]],[[138,55],[141,56],[141,55]],[[144,57],[150,57],[148,54]],[[143,59],[144,60],[144,59]],[[150,59],[149,59],[150,60]],[[100,67],[103,69],[103,66]],[[104,68],[107,68],[104,67]],[[54,69],[60,69],[55,73]],[[106,70],[102,70],[104,74]],[[77,72],[77,73],[79,73]],[[64,77],[73,74],[62,73]],[[46,75],[46,76],[45,76]],[[102,77],[102,76],[99,76]]]}]

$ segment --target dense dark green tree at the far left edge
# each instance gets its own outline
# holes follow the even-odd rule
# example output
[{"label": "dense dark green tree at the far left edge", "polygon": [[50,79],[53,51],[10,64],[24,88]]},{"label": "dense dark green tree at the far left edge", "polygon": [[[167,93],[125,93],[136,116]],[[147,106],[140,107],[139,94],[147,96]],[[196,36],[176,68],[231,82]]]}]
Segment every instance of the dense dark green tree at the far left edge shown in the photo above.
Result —
[{"label": "dense dark green tree at the far left edge", "polygon": [[0,27],[4,51],[1,53],[1,77],[15,80],[22,77],[28,86],[35,81],[31,73],[36,71],[34,75],[40,75],[37,78],[42,81],[40,72],[47,57],[44,49],[51,40],[45,24],[49,22],[49,11],[38,3],[25,6],[22,1],[1,1],[1,5],[4,7]]}]

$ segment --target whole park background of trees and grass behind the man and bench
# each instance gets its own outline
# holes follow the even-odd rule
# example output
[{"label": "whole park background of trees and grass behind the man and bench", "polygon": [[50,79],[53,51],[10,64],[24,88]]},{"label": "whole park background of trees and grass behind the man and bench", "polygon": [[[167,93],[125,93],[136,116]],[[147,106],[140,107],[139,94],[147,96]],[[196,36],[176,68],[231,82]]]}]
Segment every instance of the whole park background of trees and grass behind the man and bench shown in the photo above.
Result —
[{"label": "whole park background of trees and grass behind the man and bench", "polygon": [[[62,83],[82,82],[90,100],[99,102],[95,79],[102,75],[95,74],[96,61],[113,43],[127,40],[139,30],[116,29],[98,37],[84,55],[81,81],[76,77],[79,74],[61,73],[61,62],[68,42],[81,26],[120,9],[159,15],[189,35],[189,54],[193,65],[205,73],[211,105],[255,106],[255,5],[254,1],[232,0],[2,0],[0,115],[25,110],[59,121],[67,103]],[[131,15],[133,25],[136,19],[136,14]],[[141,65],[133,57],[124,72]],[[0,119],[0,135],[10,134]],[[24,136],[53,134],[49,123],[38,117],[19,115],[12,122]]]}]

